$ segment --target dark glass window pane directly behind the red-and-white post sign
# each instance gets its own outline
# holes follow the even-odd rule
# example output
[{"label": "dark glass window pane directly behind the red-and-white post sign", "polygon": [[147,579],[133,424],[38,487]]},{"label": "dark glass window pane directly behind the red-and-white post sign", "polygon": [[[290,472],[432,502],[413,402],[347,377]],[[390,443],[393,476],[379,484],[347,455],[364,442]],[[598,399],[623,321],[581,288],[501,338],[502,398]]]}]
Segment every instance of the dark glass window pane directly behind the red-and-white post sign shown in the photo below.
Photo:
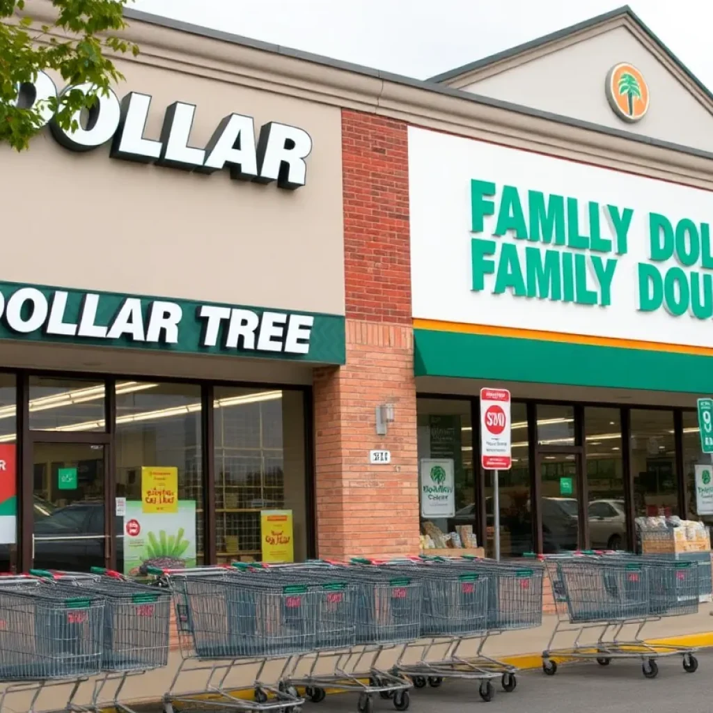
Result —
[{"label": "dark glass window pane directly behind the red-and-white post sign", "polygon": [[[498,473],[500,498],[501,557],[521,557],[533,551],[532,508],[530,507],[530,450],[528,417],[525,404],[511,405],[513,467]],[[486,471],[486,518],[488,541],[486,554],[494,555],[493,474]]]}]

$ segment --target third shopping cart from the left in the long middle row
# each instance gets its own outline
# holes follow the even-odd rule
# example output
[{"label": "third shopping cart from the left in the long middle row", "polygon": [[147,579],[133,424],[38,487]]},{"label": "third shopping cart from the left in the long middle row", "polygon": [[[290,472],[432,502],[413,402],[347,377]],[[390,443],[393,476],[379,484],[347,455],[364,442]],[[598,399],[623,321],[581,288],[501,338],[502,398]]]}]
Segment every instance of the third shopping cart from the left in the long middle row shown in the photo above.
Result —
[{"label": "third shopping cart from the left in the long middle row", "polygon": [[[284,681],[291,690],[304,687],[312,702],[321,702],[324,688],[329,687],[359,694],[357,708],[362,713],[371,712],[376,694],[391,698],[396,710],[406,710],[411,683],[393,665],[380,664],[385,652],[419,637],[421,583],[409,573],[366,565],[367,561],[361,565],[313,561],[262,567],[263,575],[279,580],[307,578],[323,586],[336,581],[346,586],[352,597],[349,609],[354,626],[348,635],[339,640],[330,637],[318,642],[312,652],[293,657],[284,671]],[[235,566],[245,568],[242,563]]]}]

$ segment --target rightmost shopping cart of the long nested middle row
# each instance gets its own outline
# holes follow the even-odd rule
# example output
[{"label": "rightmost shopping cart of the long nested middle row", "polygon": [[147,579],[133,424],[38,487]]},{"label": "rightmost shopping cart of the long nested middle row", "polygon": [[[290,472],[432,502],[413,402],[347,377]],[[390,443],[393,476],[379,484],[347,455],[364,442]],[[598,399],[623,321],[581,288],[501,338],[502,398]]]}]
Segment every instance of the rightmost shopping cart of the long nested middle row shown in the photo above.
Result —
[{"label": "rightmost shopping cart of the long nested middle row", "polygon": [[[483,595],[484,616],[473,620],[469,632],[445,631],[451,635],[451,647],[446,650],[446,656],[438,667],[442,674],[438,676],[414,678],[416,687],[426,683],[431,686],[440,685],[444,677],[468,677],[480,679],[480,694],[483,700],[489,701],[495,694],[492,679],[501,678],[501,685],[506,692],[512,692],[517,686],[517,668],[506,662],[489,657],[484,652],[490,637],[508,630],[528,629],[538,627],[542,623],[542,590],[544,570],[541,565],[523,566],[518,563],[498,563],[471,557],[462,558],[423,558],[440,581],[450,581],[456,587],[460,578],[473,575],[478,578],[479,594]],[[457,578],[457,579],[456,579]],[[473,583],[475,584],[475,583]],[[469,588],[466,588],[466,590]],[[451,620],[462,602],[448,597],[448,602],[454,607]],[[476,603],[473,602],[473,606]],[[478,602],[478,606],[480,602]],[[473,612],[474,614],[475,612]],[[464,622],[468,626],[468,622]],[[452,625],[452,624],[451,624]],[[461,653],[468,642],[477,642],[476,652],[471,655]],[[425,651],[423,658],[430,654]]]}]

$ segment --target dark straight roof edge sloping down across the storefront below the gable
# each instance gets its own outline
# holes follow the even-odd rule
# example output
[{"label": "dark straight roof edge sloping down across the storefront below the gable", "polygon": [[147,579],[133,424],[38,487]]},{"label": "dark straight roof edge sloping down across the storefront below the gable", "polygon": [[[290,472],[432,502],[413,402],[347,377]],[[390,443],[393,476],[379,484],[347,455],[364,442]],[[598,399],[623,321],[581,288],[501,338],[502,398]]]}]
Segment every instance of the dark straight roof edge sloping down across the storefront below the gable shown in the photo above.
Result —
[{"label": "dark straight roof edge sloping down across the storefront below the gable", "polygon": [[[593,131],[595,133],[600,133],[604,135],[609,135],[615,138],[621,138],[624,140],[630,140],[634,143],[647,144],[650,146],[655,146],[656,148],[662,148],[669,151],[675,151],[677,153],[683,153],[686,155],[696,156],[697,158],[704,158],[706,160],[713,160],[713,152],[702,150],[699,148],[694,148],[693,146],[686,146],[682,144],[672,143],[670,141],[665,141],[657,138],[652,138],[650,136],[645,136],[642,134],[632,133],[623,129],[611,128],[609,126],[596,124],[590,121],[585,121],[582,119],[575,119],[569,116],[562,116],[561,114],[555,114],[549,111],[543,111],[541,109],[531,108],[529,106],[523,106],[521,104],[515,104],[509,101],[503,101],[501,99],[491,98],[488,96],[481,96],[473,92],[463,91],[461,89],[455,89],[443,84],[434,83],[431,80],[421,80],[415,79],[413,77],[407,77],[401,74],[394,74],[391,72],[382,71],[379,69],[374,69],[373,67],[367,67],[361,64],[356,64],[352,62],[345,62],[338,59],[333,59],[323,55],[314,54],[311,52],[304,52],[302,50],[297,50],[289,47],[283,47],[281,45],[273,44],[270,42],[264,42],[262,40],[255,40],[249,37],[231,34],[222,30],[210,29],[207,27],[202,27],[200,25],[195,25],[192,23],[175,20],[172,18],[163,17],[160,15],[150,14],[139,10],[133,10],[129,8],[124,9],[124,16],[129,20],[138,20],[139,22],[145,22],[147,24],[152,24],[159,27],[165,27],[167,29],[172,29],[179,32],[186,32],[188,34],[198,35],[206,37],[209,39],[215,39],[223,42],[230,42],[232,44],[250,47],[253,49],[275,53],[282,55],[284,57],[290,57],[302,61],[312,62],[321,66],[331,67],[334,69],[341,69],[343,71],[354,72],[362,76],[370,76],[374,78],[381,79],[382,81],[394,82],[396,84],[401,84],[403,86],[410,86],[416,89],[421,89],[423,91],[428,91],[431,93],[441,94],[444,96],[451,96],[453,98],[458,98],[463,101],[470,101],[473,103],[483,104],[484,106],[491,106],[493,108],[502,109],[504,111],[512,111],[514,113],[522,114],[524,116],[531,116],[533,118],[543,119],[547,121],[552,121],[554,123],[559,123],[562,125],[572,126],[574,128],[580,128],[588,131]],[[633,15],[633,13],[632,13]],[[645,25],[642,24],[644,29],[647,29]],[[648,31],[648,30],[647,30]],[[665,47],[665,46],[664,46]],[[691,75],[692,76],[692,75]],[[692,78],[694,78],[692,76]],[[695,78],[694,78],[695,79]],[[697,81],[697,80],[696,80]],[[697,81],[697,83],[699,83]],[[704,86],[699,83],[702,89]],[[707,89],[705,89],[708,96],[712,96]],[[713,97],[712,97],[713,100]]]}]

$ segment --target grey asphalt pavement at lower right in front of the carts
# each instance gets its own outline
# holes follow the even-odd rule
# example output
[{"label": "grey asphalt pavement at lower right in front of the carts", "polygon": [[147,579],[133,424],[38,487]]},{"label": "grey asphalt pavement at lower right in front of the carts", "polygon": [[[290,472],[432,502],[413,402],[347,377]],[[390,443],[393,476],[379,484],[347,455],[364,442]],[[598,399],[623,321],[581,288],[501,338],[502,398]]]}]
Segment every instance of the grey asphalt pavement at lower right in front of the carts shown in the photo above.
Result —
[{"label": "grey asphalt pavement at lower right in front of the carts", "polygon": [[[613,661],[560,666],[550,677],[541,671],[523,672],[511,693],[495,681],[496,693],[483,702],[478,683],[443,682],[439,688],[412,689],[410,713],[462,713],[473,707],[483,713],[711,713],[713,711],[713,652],[697,654],[699,669],[683,670],[680,657],[659,660],[659,674],[646,679],[641,662]],[[319,704],[307,703],[304,713],[356,713],[356,696],[329,696]],[[374,713],[393,713],[394,705],[376,697]]]}]

